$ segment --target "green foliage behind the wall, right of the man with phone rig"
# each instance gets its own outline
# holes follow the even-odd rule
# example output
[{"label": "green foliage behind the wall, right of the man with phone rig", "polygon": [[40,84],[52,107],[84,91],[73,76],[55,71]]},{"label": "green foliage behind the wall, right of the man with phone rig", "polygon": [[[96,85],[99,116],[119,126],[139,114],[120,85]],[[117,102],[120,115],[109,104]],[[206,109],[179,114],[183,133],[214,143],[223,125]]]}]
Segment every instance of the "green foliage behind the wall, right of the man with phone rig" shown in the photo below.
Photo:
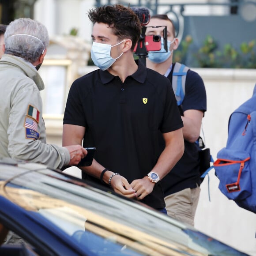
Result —
[{"label": "green foliage behind the wall, right of the man with phone rig", "polygon": [[192,43],[191,36],[181,41],[181,49],[174,52],[174,61],[184,62],[188,53],[196,60],[194,67],[199,68],[256,68],[256,40],[243,42],[239,49],[230,43],[219,49],[215,39],[207,35],[197,52],[188,51]]}]

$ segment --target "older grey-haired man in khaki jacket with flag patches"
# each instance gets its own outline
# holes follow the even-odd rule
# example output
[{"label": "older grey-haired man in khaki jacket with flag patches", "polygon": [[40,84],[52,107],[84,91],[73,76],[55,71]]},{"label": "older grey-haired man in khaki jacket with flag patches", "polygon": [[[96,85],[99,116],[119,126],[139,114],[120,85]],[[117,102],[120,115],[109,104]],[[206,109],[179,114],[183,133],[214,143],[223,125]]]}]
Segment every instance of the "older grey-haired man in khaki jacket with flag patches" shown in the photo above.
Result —
[{"label": "older grey-haired man in khaki jacket with flag patches", "polygon": [[81,145],[46,144],[38,73],[49,35],[36,20],[12,21],[4,34],[0,60],[0,157],[43,163],[52,168],[77,165],[87,151]]}]

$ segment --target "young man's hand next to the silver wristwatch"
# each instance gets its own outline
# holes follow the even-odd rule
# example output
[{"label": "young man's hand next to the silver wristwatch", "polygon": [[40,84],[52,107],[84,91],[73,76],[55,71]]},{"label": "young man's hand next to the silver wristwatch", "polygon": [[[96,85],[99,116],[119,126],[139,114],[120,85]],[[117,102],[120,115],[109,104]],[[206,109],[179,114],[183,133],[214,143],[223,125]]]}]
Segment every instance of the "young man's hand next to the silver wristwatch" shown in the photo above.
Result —
[{"label": "young man's hand next to the silver wristwatch", "polygon": [[142,200],[145,196],[149,195],[154,188],[155,183],[150,181],[148,177],[143,177],[143,179],[134,180],[131,183],[132,188],[137,193],[137,199]]}]

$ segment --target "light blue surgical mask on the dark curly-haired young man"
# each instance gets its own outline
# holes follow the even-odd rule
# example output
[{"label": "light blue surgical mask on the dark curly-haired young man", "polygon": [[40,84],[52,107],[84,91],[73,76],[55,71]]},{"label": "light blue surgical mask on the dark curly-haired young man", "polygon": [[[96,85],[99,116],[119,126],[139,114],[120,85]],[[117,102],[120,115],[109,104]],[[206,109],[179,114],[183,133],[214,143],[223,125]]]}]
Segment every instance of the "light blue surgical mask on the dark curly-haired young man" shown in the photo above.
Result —
[{"label": "light blue surgical mask on the dark curly-haired young man", "polygon": [[[120,45],[123,41],[121,41],[120,43],[118,43],[116,45]],[[116,59],[113,59],[110,56],[111,48],[116,45],[111,46],[108,44],[101,44],[101,43],[93,42],[91,50],[90,50],[90,55],[91,55],[92,61],[98,68],[100,68],[102,70],[108,69],[118,58],[120,58],[120,56],[123,55],[123,53],[121,53],[120,56],[117,57]]]}]

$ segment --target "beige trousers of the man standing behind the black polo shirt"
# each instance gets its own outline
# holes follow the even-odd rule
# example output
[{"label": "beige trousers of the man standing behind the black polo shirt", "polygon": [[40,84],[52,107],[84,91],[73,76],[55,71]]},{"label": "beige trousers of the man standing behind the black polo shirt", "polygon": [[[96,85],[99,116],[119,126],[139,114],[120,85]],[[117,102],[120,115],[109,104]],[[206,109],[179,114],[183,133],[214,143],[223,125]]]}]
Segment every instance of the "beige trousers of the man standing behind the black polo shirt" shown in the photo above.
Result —
[{"label": "beige trousers of the man standing behind the black polo shirt", "polygon": [[194,226],[196,207],[200,196],[200,187],[185,188],[165,197],[167,214]]}]

